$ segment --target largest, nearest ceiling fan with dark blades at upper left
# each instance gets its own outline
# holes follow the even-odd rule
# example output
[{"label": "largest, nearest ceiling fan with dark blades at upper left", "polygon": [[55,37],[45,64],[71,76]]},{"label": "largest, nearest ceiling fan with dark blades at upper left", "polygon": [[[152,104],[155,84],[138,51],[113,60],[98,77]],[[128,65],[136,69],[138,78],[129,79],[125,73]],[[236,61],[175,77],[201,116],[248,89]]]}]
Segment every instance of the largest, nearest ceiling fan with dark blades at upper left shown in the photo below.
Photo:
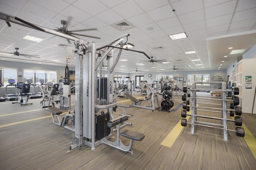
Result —
[{"label": "largest, nearest ceiling fan with dark blades at upper left", "polygon": [[[72,37],[76,37],[75,35],[78,35],[78,36],[84,36],[84,37],[91,37],[91,38],[100,39],[100,37],[94,37],[94,36],[90,36],[90,35],[83,35],[83,34],[74,33],[74,32],[81,32],[81,31],[98,30],[97,28],[78,29],[78,30],[69,31],[68,30],[68,24],[70,23],[71,19],[72,19],[72,17],[69,17],[68,21],[61,20],[60,23],[63,25],[63,27],[60,27],[60,28],[57,28],[57,29],[54,29],[54,30],[58,31],[58,32],[61,32],[61,33],[64,33],[64,34],[67,34],[67,35],[70,35]],[[76,37],[76,38],[78,38],[78,37]],[[70,43],[70,40],[69,39],[67,39],[67,40],[68,40],[68,43]]]}]

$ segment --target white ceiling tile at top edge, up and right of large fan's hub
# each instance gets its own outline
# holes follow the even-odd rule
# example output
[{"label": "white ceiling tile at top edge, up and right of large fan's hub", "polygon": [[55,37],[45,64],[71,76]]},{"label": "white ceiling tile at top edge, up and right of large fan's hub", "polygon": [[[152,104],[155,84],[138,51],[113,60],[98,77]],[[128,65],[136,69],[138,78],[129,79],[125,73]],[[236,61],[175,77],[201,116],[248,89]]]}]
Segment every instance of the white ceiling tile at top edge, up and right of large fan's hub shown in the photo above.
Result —
[{"label": "white ceiling tile at top edge, up and right of large fan's hub", "polygon": [[93,3],[90,2],[91,0],[78,0],[72,5],[92,16],[108,10],[108,7],[99,2],[98,0],[94,0]]}]

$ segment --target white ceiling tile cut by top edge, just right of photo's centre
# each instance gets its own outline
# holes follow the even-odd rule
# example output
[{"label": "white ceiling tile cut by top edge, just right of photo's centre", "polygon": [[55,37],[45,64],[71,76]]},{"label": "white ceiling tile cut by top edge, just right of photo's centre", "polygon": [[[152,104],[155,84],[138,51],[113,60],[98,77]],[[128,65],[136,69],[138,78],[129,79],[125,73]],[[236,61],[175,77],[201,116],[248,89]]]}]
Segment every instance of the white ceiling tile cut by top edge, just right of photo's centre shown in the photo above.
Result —
[{"label": "white ceiling tile cut by top edge, just right of photo's centre", "polygon": [[145,12],[169,4],[168,0],[136,0],[134,2],[136,2]]}]

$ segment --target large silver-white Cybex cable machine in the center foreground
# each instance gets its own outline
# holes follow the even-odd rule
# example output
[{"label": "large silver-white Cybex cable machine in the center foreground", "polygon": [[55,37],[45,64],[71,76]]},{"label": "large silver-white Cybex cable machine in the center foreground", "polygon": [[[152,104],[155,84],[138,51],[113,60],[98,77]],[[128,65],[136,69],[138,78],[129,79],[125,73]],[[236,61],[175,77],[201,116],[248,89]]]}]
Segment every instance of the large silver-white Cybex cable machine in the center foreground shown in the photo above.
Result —
[{"label": "large silver-white Cybex cable machine in the center foreground", "polygon": [[[114,118],[113,110],[116,109],[117,103],[114,102],[114,94],[112,89],[113,73],[114,73],[113,71],[116,64],[118,63],[122,50],[135,51],[128,48],[123,48],[124,44],[127,43],[127,38],[129,34],[125,34],[117,38],[116,40],[112,41],[109,45],[105,45],[103,47],[96,49],[95,42],[92,42],[92,45],[88,46],[87,41],[84,41],[77,37],[66,35],[64,33],[61,33],[52,29],[41,27],[39,25],[28,23],[15,16],[10,16],[8,14],[4,14],[0,12],[0,19],[75,41],[75,45],[76,45],[76,50],[74,50],[74,53],[76,53],[76,58],[75,58],[76,88],[75,90],[76,90],[76,96],[77,96],[76,104],[75,104],[75,111],[76,111],[75,135],[76,137],[72,141],[73,143],[70,146],[70,150],[73,150],[74,148],[77,148],[77,147],[81,149],[82,145],[87,145],[91,147],[91,150],[94,150],[96,146],[106,143],[105,139],[112,137],[112,134],[114,131],[113,127],[115,125],[116,125],[117,132],[119,132],[118,129],[120,129],[121,127],[129,125],[128,123],[123,121],[122,124],[124,126],[123,125],[118,126],[118,120],[122,118],[127,119],[125,118],[126,117],[125,111],[123,113],[123,116],[119,117],[120,119],[117,120]],[[113,57],[114,48],[119,49],[118,55],[117,57],[115,57],[115,59]],[[150,57],[142,51],[135,51],[135,52],[143,53],[148,59],[150,59]],[[101,95],[101,92],[100,92],[101,87],[96,87],[96,82],[97,82],[97,74],[99,73],[100,76],[102,75],[101,74],[102,68],[99,66],[100,65],[102,66],[104,59],[107,59],[106,62],[108,63],[107,64],[108,65],[107,96],[104,96],[106,98],[96,98],[97,93],[99,94],[99,96]],[[99,83],[99,86],[100,86],[100,83]],[[97,88],[99,89],[99,92],[97,92],[96,90]],[[96,119],[100,119],[98,118],[99,115],[106,116],[107,118],[107,115],[104,113],[104,111],[107,111],[106,114],[109,114],[110,120],[114,120],[115,123],[114,125],[112,124],[113,126],[111,125],[111,123],[113,122],[112,121],[106,122],[107,119],[104,119],[104,117],[103,117],[103,122],[96,122]],[[107,127],[106,123],[110,124],[108,125],[108,127],[110,128],[110,134],[108,135],[108,133],[105,133],[105,130],[107,130],[107,128],[104,128],[104,129],[95,128],[96,123],[100,124],[98,128],[100,128],[101,125],[103,125],[103,127]],[[96,134],[98,132],[103,134],[103,138],[96,141]],[[108,145],[111,147],[115,147],[116,149],[124,150],[126,152],[132,152],[132,144],[134,140],[140,141],[144,138],[143,134],[138,132],[128,131],[128,130],[123,131],[122,133],[120,133],[120,135],[130,139],[130,147],[128,147],[128,149],[127,148],[124,149],[124,146],[120,145],[121,139],[117,140],[117,145],[115,143],[108,143]]]}]

